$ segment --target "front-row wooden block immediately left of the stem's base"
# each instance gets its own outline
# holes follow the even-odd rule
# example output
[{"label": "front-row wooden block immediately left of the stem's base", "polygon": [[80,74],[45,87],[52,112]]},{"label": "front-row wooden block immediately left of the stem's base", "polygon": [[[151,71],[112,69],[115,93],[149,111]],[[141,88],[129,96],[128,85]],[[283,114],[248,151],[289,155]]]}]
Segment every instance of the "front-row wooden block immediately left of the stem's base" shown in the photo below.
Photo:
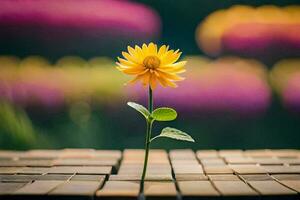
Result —
[{"label": "front-row wooden block immediately left of the stem's base", "polygon": [[137,199],[140,183],[134,181],[106,181],[96,192],[99,199]]}]

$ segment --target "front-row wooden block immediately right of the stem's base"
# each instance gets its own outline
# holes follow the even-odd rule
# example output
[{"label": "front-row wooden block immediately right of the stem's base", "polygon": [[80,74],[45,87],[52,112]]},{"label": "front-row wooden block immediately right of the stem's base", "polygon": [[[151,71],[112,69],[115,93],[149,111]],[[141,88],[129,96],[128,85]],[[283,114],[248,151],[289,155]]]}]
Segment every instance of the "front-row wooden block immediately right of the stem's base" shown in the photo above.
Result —
[{"label": "front-row wooden block immediately right of the stem's base", "polygon": [[177,191],[170,181],[146,181],[144,195],[146,199],[176,199]]}]

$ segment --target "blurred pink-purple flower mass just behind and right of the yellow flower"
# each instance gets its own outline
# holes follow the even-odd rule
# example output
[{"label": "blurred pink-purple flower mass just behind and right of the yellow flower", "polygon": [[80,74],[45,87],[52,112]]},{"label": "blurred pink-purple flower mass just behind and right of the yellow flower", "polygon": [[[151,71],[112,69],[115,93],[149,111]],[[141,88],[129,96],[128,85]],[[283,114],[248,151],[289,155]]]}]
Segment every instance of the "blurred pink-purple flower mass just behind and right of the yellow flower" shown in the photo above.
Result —
[{"label": "blurred pink-purple flower mass just behind and right of the yellow flower", "polygon": [[[199,66],[199,69],[201,67]],[[270,104],[271,91],[265,80],[241,67],[218,64],[205,70],[188,68],[186,80],[178,89],[159,87],[154,91],[155,106],[198,113],[259,114]],[[128,88],[130,98],[146,102],[146,89]]]}]

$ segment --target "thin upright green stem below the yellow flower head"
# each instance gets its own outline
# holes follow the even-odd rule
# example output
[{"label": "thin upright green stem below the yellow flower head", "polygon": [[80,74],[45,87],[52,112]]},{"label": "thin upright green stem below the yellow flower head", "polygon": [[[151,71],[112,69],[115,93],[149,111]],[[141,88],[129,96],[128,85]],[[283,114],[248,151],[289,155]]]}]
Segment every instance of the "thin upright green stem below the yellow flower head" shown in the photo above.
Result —
[{"label": "thin upright green stem below the yellow flower head", "polygon": [[[148,96],[148,110],[150,113],[153,111],[153,96],[152,96],[152,89],[149,86],[149,96]],[[144,191],[144,181],[146,177],[146,171],[147,171],[147,164],[148,164],[148,156],[149,156],[149,150],[150,150],[150,138],[151,138],[151,130],[152,130],[152,119],[147,119],[147,130],[146,130],[146,138],[145,138],[145,159],[144,159],[144,167],[143,167],[143,173],[141,178],[141,188],[140,191]]]}]

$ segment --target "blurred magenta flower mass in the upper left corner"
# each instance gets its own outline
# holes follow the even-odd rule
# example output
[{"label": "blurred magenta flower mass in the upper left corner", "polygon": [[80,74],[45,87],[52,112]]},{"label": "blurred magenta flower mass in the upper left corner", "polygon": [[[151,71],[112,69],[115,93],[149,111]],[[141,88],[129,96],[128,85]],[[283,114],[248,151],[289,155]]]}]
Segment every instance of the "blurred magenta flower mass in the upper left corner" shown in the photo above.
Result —
[{"label": "blurred magenta flower mass in the upper left corner", "polygon": [[0,42],[19,51],[98,55],[157,38],[160,18],[130,1],[1,0],[0,29]]}]

